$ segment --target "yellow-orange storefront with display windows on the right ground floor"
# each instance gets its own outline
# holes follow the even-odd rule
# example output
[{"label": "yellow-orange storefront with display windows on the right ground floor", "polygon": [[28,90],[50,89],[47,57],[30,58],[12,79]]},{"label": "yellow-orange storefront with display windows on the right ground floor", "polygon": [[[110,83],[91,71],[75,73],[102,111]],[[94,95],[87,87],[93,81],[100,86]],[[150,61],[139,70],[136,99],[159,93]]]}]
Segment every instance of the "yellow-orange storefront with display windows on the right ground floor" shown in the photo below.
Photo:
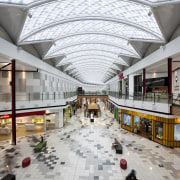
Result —
[{"label": "yellow-orange storefront with display windows on the right ground floor", "polygon": [[180,119],[122,110],[122,128],[167,147],[180,147]]}]

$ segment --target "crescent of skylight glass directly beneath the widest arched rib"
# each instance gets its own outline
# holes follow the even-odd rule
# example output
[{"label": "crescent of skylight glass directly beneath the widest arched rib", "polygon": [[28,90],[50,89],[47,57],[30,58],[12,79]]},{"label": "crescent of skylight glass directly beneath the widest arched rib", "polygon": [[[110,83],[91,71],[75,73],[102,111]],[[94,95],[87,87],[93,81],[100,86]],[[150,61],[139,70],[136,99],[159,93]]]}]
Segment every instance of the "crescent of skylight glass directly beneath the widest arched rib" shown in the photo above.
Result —
[{"label": "crescent of skylight glass directly beneath the widest arched rib", "polygon": [[[126,24],[102,20],[82,20],[47,28],[28,37],[24,41],[54,40],[68,35],[92,32],[113,34],[125,38],[160,40],[160,37],[158,38],[142,29]],[[21,36],[21,39],[23,38]]]}]

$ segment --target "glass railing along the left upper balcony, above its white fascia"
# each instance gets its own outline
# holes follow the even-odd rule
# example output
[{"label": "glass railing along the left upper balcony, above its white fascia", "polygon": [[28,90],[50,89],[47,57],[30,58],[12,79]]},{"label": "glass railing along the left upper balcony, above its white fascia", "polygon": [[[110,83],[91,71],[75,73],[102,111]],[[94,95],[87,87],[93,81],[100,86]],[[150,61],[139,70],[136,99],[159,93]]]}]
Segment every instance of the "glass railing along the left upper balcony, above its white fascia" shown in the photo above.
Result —
[{"label": "glass railing along the left upper balcony, above its white fascia", "polygon": [[[76,96],[76,92],[43,92],[43,93],[17,93],[16,101],[44,101],[44,100],[60,100]],[[11,94],[0,94],[0,102],[11,102]]]}]

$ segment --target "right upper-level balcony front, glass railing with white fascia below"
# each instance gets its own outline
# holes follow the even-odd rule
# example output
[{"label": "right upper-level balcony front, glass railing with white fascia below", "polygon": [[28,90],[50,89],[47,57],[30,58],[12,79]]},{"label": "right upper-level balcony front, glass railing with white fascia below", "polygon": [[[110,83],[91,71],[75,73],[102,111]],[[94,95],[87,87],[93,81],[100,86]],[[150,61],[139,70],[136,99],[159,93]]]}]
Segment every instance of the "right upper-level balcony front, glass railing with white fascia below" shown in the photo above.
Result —
[{"label": "right upper-level balcony front, glass railing with white fascia below", "polygon": [[180,96],[163,93],[142,93],[120,94],[119,92],[109,91],[109,99],[126,109],[136,109],[137,111],[149,111],[152,113],[162,113],[165,115],[177,115],[174,109],[180,106]]}]

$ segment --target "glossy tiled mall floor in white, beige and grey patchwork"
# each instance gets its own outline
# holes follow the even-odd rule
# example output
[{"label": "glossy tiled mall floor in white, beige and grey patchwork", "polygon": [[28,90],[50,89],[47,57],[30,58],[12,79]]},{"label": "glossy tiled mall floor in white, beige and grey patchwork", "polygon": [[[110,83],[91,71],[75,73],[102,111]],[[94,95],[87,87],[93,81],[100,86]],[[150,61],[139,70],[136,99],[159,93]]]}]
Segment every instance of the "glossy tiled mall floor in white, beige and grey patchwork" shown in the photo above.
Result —
[{"label": "glossy tiled mall floor in white, beige and grey patchwork", "polygon": [[[102,117],[94,123],[79,111],[64,128],[48,131],[47,149],[41,153],[33,152],[39,134],[18,138],[15,147],[1,141],[0,178],[8,169],[17,180],[124,180],[135,169],[138,180],[180,179],[180,148],[166,148],[121,129],[102,106]],[[114,138],[123,146],[122,155],[111,147]],[[31,165],[22,168],[25,157],[31,157]],[[126,170],[120,168],[122,158]]]}]

